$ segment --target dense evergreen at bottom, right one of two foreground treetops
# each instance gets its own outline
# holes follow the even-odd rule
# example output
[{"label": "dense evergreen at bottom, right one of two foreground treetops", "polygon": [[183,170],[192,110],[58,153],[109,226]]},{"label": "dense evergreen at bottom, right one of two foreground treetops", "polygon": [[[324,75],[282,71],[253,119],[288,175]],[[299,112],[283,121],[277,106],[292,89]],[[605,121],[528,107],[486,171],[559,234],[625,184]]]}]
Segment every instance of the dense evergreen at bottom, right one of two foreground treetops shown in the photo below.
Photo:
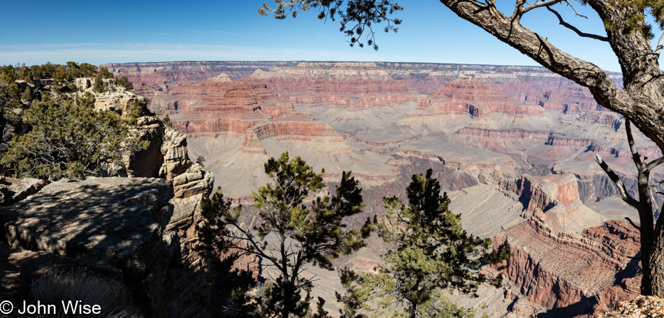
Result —
[{"label": "dense evergreen at bottom, right one of two foreground treetops", "polygon": [[449,211],[449,198],[440,195],[432,173],[429,169],[426,175],[412,176],[407,205],[396,196],[383,198],[387,217],[378,231],[396,246],[383,256],[386,265],[376,275],[342,270],[347,293],[337,298],[344,305],[343,317],[474,317],[474,310],[450,303],[442,291],[477,296],[480,283],[498,287],[502,282],[500,276],[487,279],[478,269],[507,259],[509,250],[491,251],[491,239],[463,230],[461,215]]}]

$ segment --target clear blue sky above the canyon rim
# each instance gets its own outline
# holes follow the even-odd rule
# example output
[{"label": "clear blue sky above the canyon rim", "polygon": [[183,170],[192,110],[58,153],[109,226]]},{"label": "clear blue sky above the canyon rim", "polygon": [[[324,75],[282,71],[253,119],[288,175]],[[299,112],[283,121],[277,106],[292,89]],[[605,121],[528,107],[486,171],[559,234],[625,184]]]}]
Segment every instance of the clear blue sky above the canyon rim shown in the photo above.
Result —
[{"label": "clear blue sky above the canyon rim", "polygon": [[[271,2],[271,1],[270,1]],[[505,12],[511,12],[508,2]],[[456,17],[435,0],[398,1],[405,9],[398,33],[377,34],[380,50],[349,48],[338,22],[315,12],[275,20],[257,13],[264,0],[216,1],[3,1],[0,64],[68,61],[166,62],[194,60],[310,60],[537,65],[528,57]],[[589,19],[556,5],[582,31],[605,35],[599,17]],[[609,45],[579,38],[545,9],[523,24],[572,55],[619,71]],[[660,34],[656,34],[656,38]]]}]

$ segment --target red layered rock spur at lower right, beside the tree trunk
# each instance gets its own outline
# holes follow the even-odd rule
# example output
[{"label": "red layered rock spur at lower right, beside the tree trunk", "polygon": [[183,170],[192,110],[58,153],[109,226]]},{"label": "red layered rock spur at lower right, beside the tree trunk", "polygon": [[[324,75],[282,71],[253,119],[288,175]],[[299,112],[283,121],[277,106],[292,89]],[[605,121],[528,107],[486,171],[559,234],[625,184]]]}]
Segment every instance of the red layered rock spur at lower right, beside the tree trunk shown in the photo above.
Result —
[{"label": "red layered rock spur at lower right, beside the tree trunk", "polygon": [[556,233],[540,214],[498,233],[493,242],[512,251],[504,272],[513,283],[510,293],[546,308],[550,317],[592,313],[594,296],[602,289],[639,273],[637,261],[630,258],[640,250],[639,235],[628,222],[610,221],[579,234]]}]

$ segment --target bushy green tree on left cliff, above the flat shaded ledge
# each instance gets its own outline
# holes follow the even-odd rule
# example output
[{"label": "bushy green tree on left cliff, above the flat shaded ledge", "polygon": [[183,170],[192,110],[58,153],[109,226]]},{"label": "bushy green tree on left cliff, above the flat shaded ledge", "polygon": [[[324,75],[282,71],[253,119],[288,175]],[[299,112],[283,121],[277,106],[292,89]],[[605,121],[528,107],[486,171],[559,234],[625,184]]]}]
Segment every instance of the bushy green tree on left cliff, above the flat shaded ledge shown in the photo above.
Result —
[{"label": "bushy green tree on left cliff, above the flat shaded ledge", "polygon": [[122,164],[122,154],[147,148],[149,141],[129,133],[129,124],[109,111],[94,110],[94,96],[56,101],[43,95],[22,113],[27,133],[10,141],[0,159],[16,178],[103,176],[109,164]]}]

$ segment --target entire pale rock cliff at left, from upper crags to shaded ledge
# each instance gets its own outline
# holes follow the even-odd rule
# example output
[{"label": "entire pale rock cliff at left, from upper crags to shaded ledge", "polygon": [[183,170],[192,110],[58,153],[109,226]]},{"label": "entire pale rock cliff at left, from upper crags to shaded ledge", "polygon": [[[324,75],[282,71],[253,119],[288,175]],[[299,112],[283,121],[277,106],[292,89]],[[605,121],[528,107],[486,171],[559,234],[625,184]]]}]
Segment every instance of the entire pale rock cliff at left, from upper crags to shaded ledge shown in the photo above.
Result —
[{"label": "entire pale rock cliff at left, from upper crags to shaded ledge", "polygon": [[[90,79],[76,81],[80,89],[74,94],[90,91]],[[94,93],[96,108],[123,117],[131,108],[147,112],[142,96],[116,87],[114,80],[103,85],[105,92]],[[3,299],[17,306],[36,300],[44,286],[75,280],[116,289],[121,295],[116,300],[125,308],[133,303],[138,315],[208,315],[201,305],[209,296],[203,288],[208,264],[194,247],[202,221],[199,205],[212,191],[212,173],[189,160],[185,134],[157,117],[138,117],[131,129],[150,146],[125,154],[124,166],[116,171],[130,178],[48,185],[0,178],[0,202],[8,205],[0,213],[0,254],[7,260],[0,264],[7,274],[0,280]],[[37,281],[43,285],[34,287]],[[69,300],[45,292],[56,303]],[[103,296],[97,292],[102,293],[89,291],[85,297],[92,298],[86,299]]]}]

